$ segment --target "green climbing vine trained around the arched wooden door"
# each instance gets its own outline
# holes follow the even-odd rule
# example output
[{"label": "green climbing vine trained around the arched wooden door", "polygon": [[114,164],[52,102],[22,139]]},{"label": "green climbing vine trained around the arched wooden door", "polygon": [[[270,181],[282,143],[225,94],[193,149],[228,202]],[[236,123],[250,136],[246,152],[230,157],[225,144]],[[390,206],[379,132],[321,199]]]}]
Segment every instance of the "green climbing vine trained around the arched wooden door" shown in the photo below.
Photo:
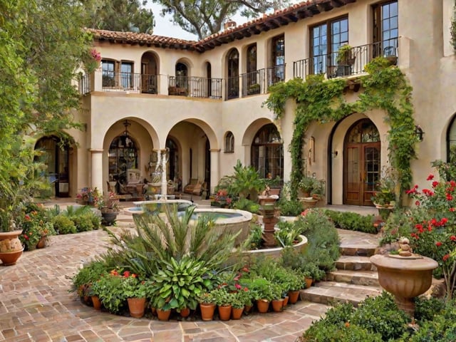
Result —
[{"label": "green climbing vine trained around the arched wooden door", "polygon": [[264,105],[274,112],[276,119],[284,115],[287,100],[296,101],[294,132],[290,144],[293,197],[297,196],[297,185],[304,169],[302,151],[309,124],[312,121],[338,121],[352,113],[364,113],[374,108],[383,109],[388,113],[385,116],[385,121],[390,125],[388,159],[398,173],[398,195],[410,188],[410,160],[416,157],[417,141],[411,104],[412,87],[400,69],[390,66],[383,57],[373,59],[366,65],[365,70],[367,75],[361,76],[359,80],[363,92],[353,103],[346,102],[343,96],[347,86],[343,78],[325,80],[323,75],[312,75],[306,81],[294,78],[269,88],[269,98]]}]

